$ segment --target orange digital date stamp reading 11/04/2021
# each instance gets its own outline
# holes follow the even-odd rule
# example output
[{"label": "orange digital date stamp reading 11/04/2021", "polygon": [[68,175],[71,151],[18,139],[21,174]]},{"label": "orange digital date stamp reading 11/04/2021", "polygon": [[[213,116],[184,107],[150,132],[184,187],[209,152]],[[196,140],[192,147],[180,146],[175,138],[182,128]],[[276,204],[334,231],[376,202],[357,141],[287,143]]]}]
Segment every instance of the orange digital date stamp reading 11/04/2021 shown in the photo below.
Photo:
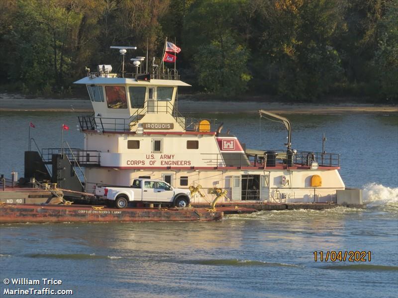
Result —
[{"label": "orange digital date stamp reading 11/04/2021", "polygon": [[315,262],[370,262],[372,260],[371,251],[359,251],[359,250],[349,250],[349,251],[337,251],[337,250],[327,250],[327,251],[314,251]]}]

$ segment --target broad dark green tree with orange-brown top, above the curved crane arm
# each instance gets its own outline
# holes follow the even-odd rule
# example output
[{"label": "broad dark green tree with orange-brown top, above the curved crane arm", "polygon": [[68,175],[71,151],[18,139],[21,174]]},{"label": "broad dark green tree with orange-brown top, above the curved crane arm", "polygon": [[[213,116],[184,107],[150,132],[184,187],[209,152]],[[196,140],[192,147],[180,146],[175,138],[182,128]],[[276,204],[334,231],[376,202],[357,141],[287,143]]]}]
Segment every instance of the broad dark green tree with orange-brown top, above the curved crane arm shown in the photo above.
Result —
[{"label": "broad dark green tree with orange-brown top, above the curved crane arm", "polygon": [[[341,10],[332,1],[269,1],[256,12],[254,36],[261,47],[254,57],[255,75],[265,88],[292,99],[315,99],[338,81],[343,70],[332,40]],[[264,58],[266,57],[266,59]]]}]

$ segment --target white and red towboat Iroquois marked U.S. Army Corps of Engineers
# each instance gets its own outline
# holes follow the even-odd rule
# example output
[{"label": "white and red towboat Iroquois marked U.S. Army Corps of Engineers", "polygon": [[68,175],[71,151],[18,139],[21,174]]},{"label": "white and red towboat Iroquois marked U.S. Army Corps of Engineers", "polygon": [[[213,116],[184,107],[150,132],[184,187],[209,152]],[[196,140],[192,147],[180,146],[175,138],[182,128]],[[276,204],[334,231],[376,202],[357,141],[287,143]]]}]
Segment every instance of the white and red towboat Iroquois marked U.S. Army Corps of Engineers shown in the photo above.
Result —
[{"label": "white and red towboat Iroquois marked U.S. Army Corps of Engineers", "polygon": [[[222,202],[342,203],[338,193],[351,202],[339,174],[340,155],[292,149],[288,119],[259,110],[260,116],[283,122],[288,142],[282,150],[250,149],[224,133],[221,124],[180,114],[178,88],[190,85],[176,69],[153,64],[152,71],[142,71],[145,57],[137,57],[132,59],[135,70],[125,72],[128,47],[116,48],[123,58],[121,72],[99,65],[75,82],[86,86],[94,110],[78,117],[84,148],[66,144],[41,154],[27,151],[25,177],[48,178],[74,191],[65,193],[70,197],[95,193],[98,185],[131,186],[134,179],[146,178],[190,189],[194,204],[209,203],[221,192],[226,194]],[[40,160],[52,165],[51,177],[45,166],[32,165]],[[156,189],[148,192],[161,195]]]}]

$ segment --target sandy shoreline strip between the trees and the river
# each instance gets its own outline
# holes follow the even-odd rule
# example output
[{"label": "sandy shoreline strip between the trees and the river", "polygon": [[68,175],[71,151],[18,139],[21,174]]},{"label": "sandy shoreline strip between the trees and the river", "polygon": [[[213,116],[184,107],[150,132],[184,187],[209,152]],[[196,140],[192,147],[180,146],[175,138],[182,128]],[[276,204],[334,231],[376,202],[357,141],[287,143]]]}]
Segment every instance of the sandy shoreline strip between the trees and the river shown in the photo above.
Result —
[{"label": "sandy shoreline strip between the trees and the river", "polygon": [[[186,98],[184,98],[186,97]],[[265,109],[281,114],[392,114],[398,105],[382,104],[311,104],[269,101],[221,101],[193,99],[180,95],[178,110],[183,113],[257,113]],[[0,112],[93,112],[89,99],[27,98],[19,94],[0,93]]]}]

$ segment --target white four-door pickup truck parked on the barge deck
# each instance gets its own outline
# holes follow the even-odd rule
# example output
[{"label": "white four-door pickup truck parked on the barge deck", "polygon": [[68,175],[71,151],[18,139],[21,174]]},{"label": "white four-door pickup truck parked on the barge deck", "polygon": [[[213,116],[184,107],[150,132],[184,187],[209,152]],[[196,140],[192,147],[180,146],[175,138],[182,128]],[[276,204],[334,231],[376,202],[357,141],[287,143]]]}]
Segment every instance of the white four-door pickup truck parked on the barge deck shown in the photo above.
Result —
[{"label": "white four-door pickup truck parked on the barge deck", "polygon": [[176,207],[190,204],[191,192],[188,189],[174,188],[162,180],[135,179],[130,187],[97,186],[96,197],[115,202],[119,209],[128,202],[167,203]]}]

